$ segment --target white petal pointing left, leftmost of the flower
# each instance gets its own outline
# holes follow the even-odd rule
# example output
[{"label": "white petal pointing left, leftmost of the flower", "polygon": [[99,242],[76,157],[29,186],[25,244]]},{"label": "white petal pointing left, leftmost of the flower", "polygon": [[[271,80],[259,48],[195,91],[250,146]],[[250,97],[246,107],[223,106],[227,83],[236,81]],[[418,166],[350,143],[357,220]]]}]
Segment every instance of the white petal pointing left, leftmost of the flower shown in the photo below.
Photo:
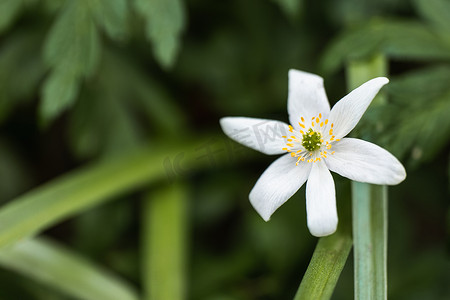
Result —
[{"label": "white petal pointing left, leftmost of the flower", "polygon": [[226,117],[220,119],[223,132],[242,145],[265,154],[285,153],[286,140],[282,136],[289,134],[289,127],[280,121]]}]

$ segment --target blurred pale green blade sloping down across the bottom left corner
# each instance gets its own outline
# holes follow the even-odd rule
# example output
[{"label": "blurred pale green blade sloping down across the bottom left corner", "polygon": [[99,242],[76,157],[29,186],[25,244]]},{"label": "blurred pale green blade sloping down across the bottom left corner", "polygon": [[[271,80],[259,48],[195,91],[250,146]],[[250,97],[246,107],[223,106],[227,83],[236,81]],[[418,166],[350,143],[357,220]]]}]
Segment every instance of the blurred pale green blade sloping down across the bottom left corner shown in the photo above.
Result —
[{"label": "blurred pale green blade sloping down across the bottom left corner", "polygon": [[84,300],[137,300],[115,275],[44,239],[24,240],[0,251],[0,266]]}]

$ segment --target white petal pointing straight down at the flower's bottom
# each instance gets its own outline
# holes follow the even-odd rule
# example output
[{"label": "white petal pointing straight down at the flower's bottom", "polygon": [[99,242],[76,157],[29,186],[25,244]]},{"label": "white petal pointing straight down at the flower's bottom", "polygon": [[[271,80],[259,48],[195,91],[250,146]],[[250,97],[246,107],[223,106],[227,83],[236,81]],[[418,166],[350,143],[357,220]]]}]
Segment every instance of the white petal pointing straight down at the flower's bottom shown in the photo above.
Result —
[{"label": "white petal pointing straight down at the flower's bottom", "polygon": [[306,184],[308,228],[312,235],[326,236],[336,231],[338,223],[334,181],[323,161],[311,164]]}]

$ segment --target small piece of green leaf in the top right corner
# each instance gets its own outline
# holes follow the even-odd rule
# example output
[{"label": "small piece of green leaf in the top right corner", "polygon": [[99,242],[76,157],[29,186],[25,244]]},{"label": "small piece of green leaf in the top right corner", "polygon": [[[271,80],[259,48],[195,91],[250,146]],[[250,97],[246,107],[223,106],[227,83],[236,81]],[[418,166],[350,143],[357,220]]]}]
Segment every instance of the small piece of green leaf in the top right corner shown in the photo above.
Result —
[{"label": "small piece of green leaf in the top right corner", "polygon": [[415,0],[417,11],[436,28],[450,34],[450,1]]}]

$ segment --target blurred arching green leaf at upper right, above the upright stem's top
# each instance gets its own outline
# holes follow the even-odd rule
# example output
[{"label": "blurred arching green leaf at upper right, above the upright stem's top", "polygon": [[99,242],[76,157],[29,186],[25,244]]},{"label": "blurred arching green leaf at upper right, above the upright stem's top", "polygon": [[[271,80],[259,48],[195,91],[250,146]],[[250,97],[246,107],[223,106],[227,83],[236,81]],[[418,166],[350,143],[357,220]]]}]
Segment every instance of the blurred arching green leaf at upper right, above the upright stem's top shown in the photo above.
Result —
[{"label": "blurred arching green leaf at upper right, above the upright stem's top", "polygon": [[450,60],[450,47],[416,21],[376,19],[341,34],[325,51],[324,72],[336,72],[351,60],[382,53],[400,60]]}]

